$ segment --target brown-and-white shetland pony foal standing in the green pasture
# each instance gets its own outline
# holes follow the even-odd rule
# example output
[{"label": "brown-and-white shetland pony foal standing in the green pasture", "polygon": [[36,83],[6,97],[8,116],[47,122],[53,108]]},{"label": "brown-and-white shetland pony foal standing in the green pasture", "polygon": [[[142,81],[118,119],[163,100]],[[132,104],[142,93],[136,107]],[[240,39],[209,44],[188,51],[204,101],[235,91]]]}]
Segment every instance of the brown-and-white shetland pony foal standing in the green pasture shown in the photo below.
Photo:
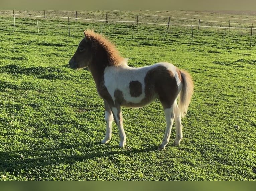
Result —
[{"label": "brown-and-white shetland pony foal standing in the green pasture", "polygon": [[[128,59],[119,55],[114,45],[93,31],[84,31],[74,56],[69,61],[72,69],[88,67],[100,97],[104,100],[106,136],[101,141],[111,139],[112,122],[115,120],[120,136],[120,147],[125,146],[126,135],[123,128],[121,106],[143,107],[158,98],[164,109],[166,131],[158,150],[169,142],[173,120],[176,124],[174,145],[182,139],[181,117],[185,116],[191,96],[193,82],[185,71],[169,63],[131,68]],[[179,105],[177,105],[177,96]]]}]

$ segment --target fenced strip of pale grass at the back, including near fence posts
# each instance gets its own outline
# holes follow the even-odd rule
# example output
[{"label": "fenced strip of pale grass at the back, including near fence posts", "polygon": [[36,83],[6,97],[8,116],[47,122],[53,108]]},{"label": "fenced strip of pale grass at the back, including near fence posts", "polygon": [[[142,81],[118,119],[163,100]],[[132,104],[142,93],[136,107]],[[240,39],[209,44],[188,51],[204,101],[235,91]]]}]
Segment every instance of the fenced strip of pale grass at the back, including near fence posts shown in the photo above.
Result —
[{"label": "fenced strip of pale grass at the back, including near fence posts", "polygon": [[[150,12],[150,11],[144,11]],[[152,12],[152,11],[151,11]],[[102,22],[102,23],[130,23],[138,25],[156,25],[156,26],[179,26],[179,27],[191,27],[192,41],[193,41],[193,27],[195,28],[218,28],[218,29],[246,29],[250,30],[250,45],[252,36],[255,31],[253,28],[253,22],[256,20],[251,17],[248,18],[234,18],[234,17],[220,17],[210,15],[195,15],[186,14],[180,12],[160,12],[155,11],[157,14],[146,14],[142,12],[129,12],[129,11],[0,11],[0,15],[12,16],[14,18],[13,32],[15,32],[15,18],[32,17],[43,20],[65,20],[68,22],[69,35],[70,35],[70,21],[86,21],[86,22]],[[171,16],[166,16],[167,14]],[[178,17],[185,15],[187,17]],[[195,18],[195,17],[208,17],[208,19]],[[247,16],[248,17],[248,16]],[[217,20],[217,18],[219,20]],[[213,20],[216,19],[216,20]],[[226,22],[225,22],[226,20]],[[240,22],[237,22],[240,21]],[[249,24],[252,22],[252,24]],[[238,27],[239,26],[239,27]],[[37,22],[37,29],[39,33],[39,27]],[[133,35],[132,35],[133,37]]]}]

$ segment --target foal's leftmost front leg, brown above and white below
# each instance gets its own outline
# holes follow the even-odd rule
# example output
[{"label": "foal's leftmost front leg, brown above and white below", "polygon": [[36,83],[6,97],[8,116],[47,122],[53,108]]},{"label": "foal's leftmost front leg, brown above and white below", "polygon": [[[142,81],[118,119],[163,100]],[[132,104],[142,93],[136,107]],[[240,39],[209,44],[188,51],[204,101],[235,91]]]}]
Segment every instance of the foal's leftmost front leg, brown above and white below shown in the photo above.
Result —
[{"label": "foal's leftmost front leg, brown above and white below", "polygon": [[105,107],[105,120],[107,122],[106,126],[106,135],[105,138],[101,141],[102,144],[106,144],[112,135],[112,122],[114,120],[113,113],[109,107],[109,104],[104,100],[104,107]]}]

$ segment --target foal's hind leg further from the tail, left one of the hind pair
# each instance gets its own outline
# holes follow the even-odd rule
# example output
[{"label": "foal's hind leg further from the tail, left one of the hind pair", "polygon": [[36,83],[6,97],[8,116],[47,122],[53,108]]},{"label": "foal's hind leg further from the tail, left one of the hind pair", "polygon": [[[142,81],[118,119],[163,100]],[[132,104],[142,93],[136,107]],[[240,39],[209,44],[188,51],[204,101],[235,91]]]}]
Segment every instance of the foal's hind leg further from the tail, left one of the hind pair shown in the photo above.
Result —
[{"label": "foal's hind leg further from the tail, left one of the hind pair", "polygon": [[174,120],[173,105],[171,106],[171,108],[164,109],[164,114],[165,114],[165,120],[166,120],[166,130],[165,130],[163,141],[158,147],[158,150],[164,149],[167,143],[169,142],[171,128]]}]

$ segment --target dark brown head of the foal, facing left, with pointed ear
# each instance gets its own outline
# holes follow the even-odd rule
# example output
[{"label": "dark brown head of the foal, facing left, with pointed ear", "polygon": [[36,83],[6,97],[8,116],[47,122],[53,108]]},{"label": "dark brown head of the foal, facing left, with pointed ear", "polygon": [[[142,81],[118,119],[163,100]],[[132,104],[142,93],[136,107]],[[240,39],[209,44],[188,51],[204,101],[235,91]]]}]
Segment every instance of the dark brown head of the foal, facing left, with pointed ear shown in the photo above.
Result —
[{"label": "dark brown head of the foal, facing left, with pointed ear", "polygon": [[93,50],[91,36],[84,31],[85,38],[79,43],[77,51],[69,61],[72,69],[86,68],[92,62]]}]

